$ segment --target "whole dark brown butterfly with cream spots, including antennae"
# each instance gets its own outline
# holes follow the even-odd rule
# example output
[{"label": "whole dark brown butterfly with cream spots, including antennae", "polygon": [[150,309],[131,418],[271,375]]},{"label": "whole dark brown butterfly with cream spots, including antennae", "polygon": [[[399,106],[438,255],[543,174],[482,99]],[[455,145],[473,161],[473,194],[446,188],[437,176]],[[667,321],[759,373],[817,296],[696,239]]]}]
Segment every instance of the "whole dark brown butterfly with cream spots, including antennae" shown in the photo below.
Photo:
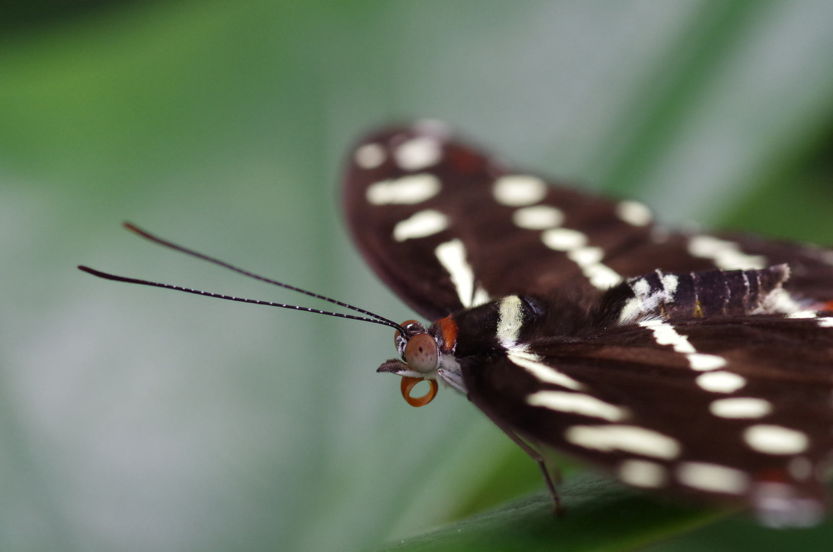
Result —
[{"label": "whole dark brown butterfly with cream spots, including antennae", "polygon": [[[431,326],[239,299],[79,267],[107,279],[362,319],[396,329],[422,406],[438,382],[541,466],[557,449],[626,484],[748,504],[764,524],[826,511],[833,455],[833,251],[739,234],[673,233],[641,203],[518,171],[440,123],[352,149],[347,222],[377,275]],[[413,397],[426,380],[428,394]]]}]

